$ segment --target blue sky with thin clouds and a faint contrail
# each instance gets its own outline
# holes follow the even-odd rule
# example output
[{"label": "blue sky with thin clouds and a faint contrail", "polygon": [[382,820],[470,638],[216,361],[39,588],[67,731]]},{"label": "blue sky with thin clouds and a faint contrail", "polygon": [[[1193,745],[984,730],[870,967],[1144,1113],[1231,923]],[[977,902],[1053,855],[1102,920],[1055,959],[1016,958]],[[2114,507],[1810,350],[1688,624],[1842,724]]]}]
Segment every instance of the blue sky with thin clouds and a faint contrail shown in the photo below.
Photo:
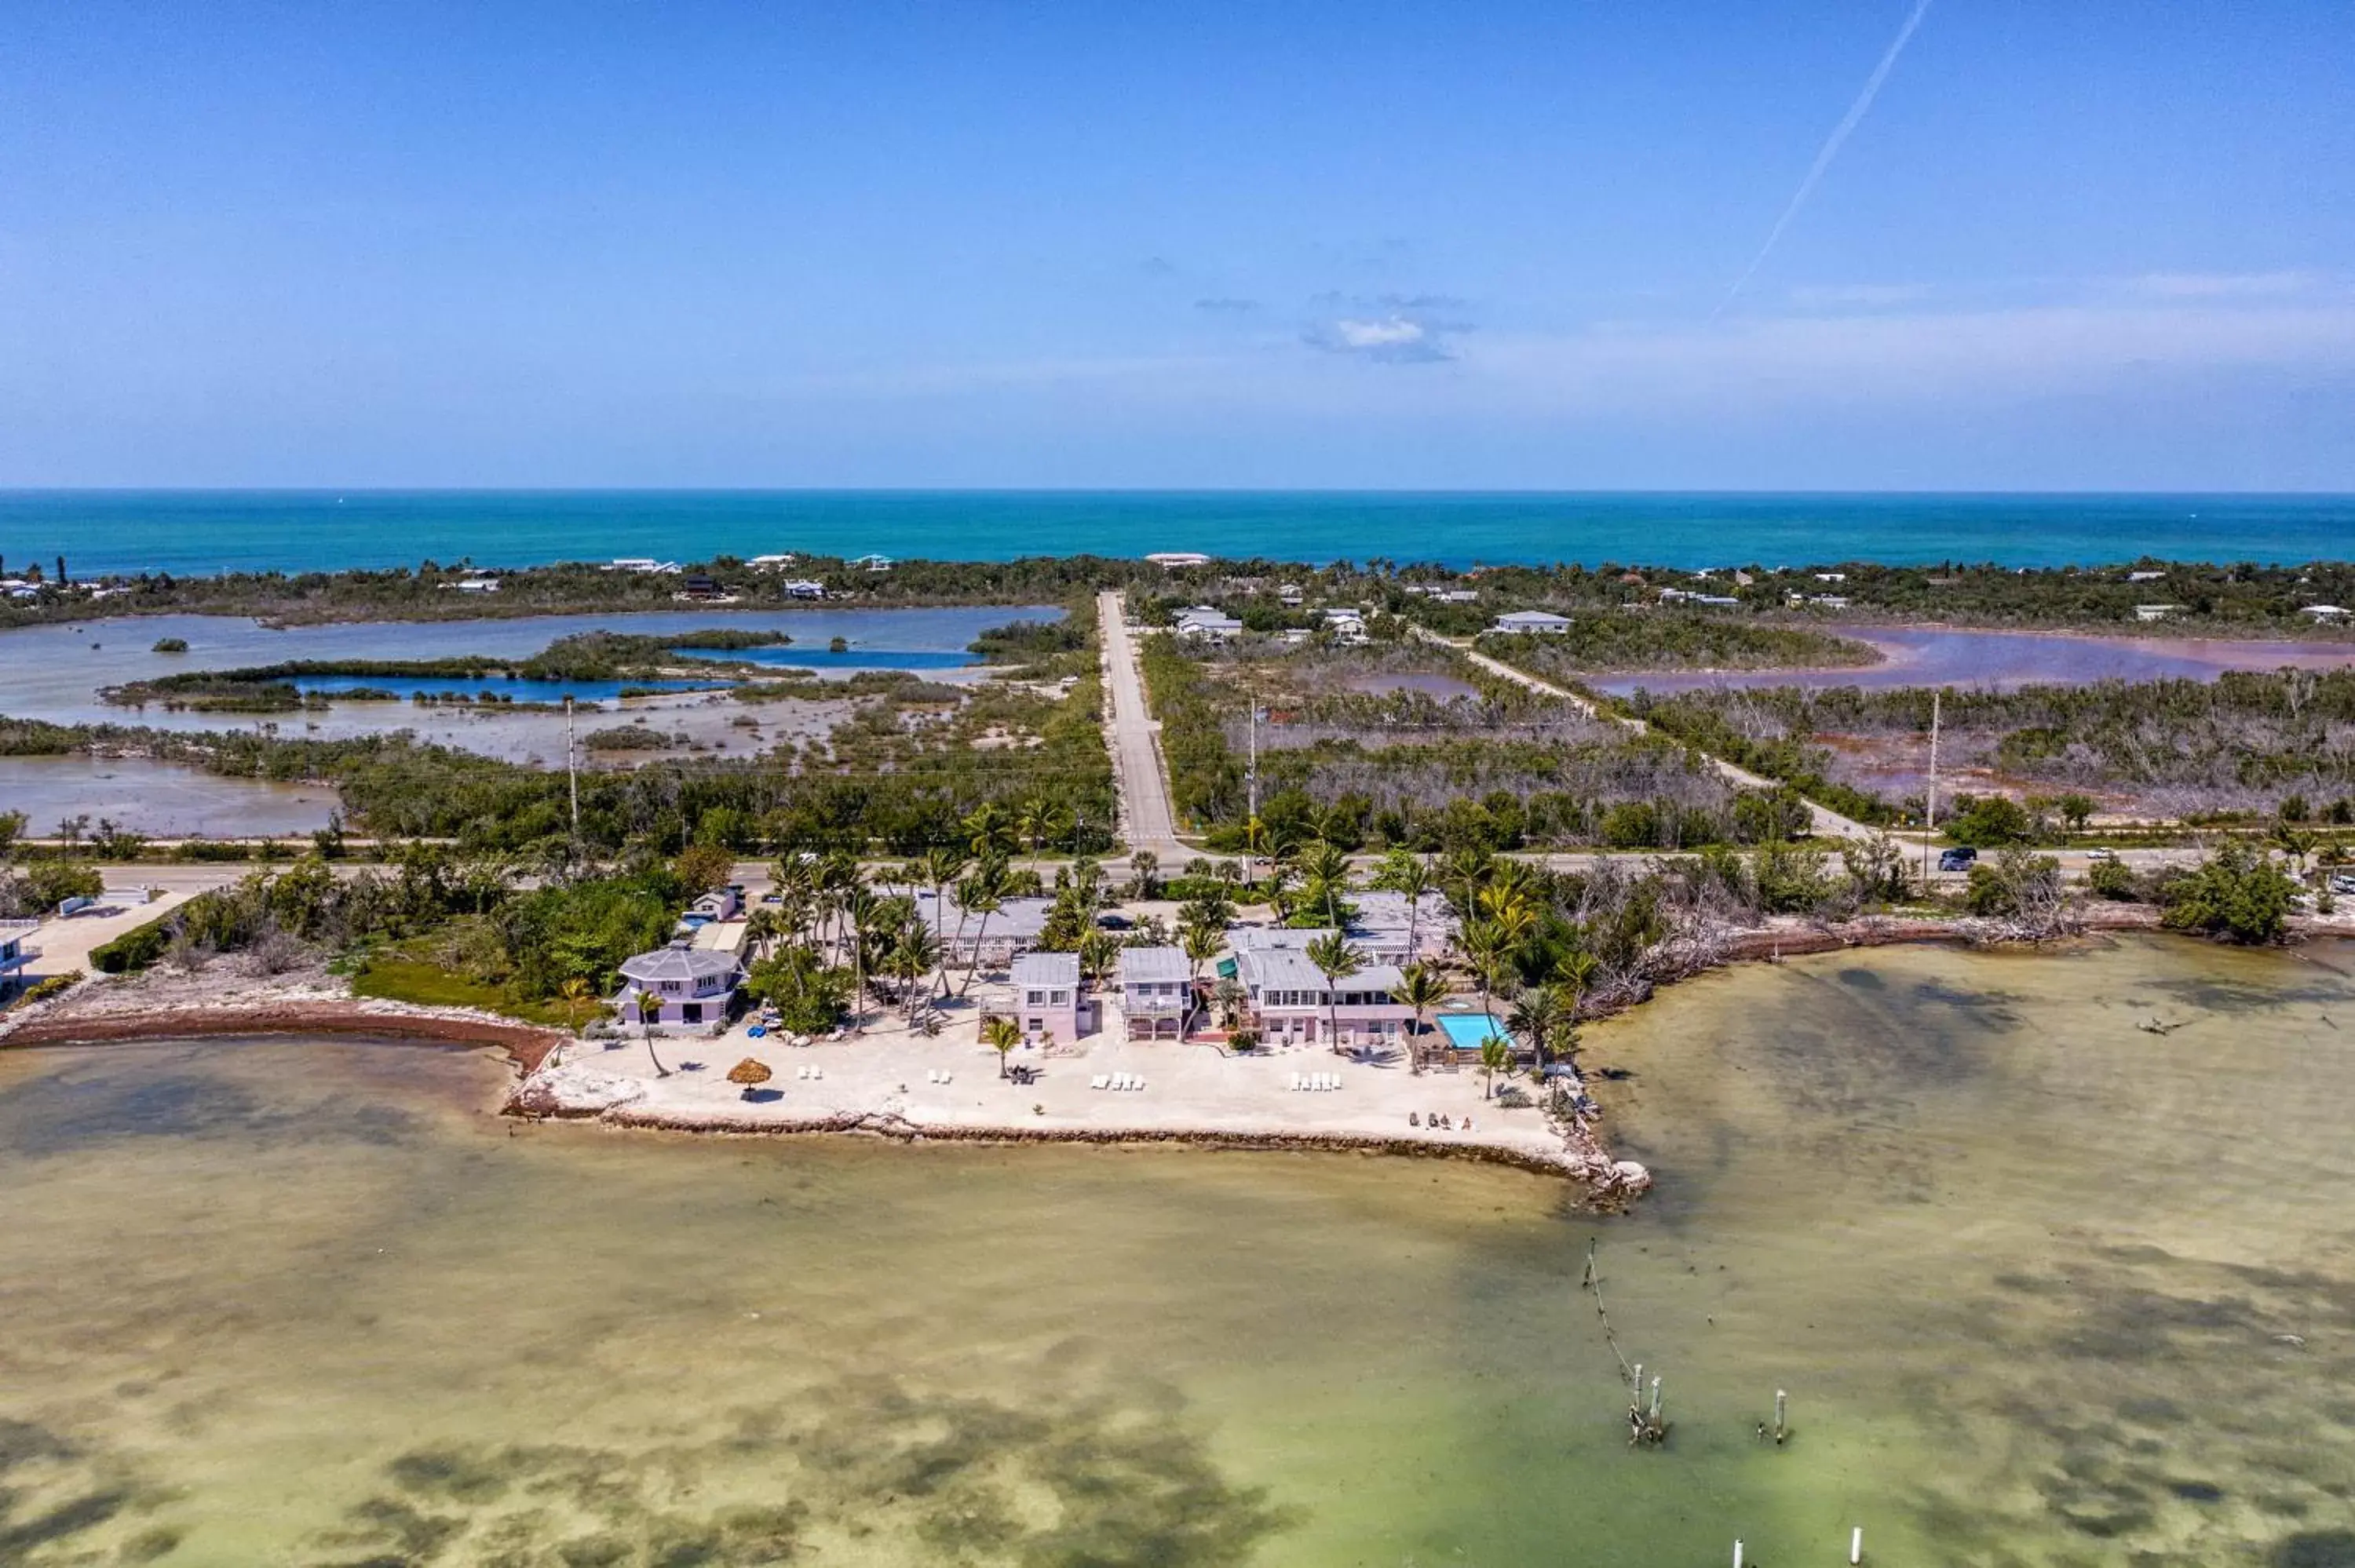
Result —
[{"label": "blue sky with thin clouds and a faint contrail", "polygon": [[[2355,490],[2355,9],[0,7],[0,485]],[[1714,313],[1714,315],[1712,315]]]}]

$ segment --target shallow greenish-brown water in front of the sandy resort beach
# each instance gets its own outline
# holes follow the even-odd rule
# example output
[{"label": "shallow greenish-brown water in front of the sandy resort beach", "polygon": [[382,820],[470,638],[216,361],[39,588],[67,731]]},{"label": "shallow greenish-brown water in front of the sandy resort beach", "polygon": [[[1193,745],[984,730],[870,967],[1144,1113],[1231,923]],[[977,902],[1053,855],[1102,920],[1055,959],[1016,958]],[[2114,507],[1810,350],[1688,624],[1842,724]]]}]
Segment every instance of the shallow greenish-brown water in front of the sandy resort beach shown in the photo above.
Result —
[{"label": "shallow greenish-brown water in front of the sandy resort beach", "polygon": [[509,1128],[412,1045],[0,1055],[0,1561],[2355,1563],[2348,968],[1707,977],[1590,1031],[1625,1220]]}]

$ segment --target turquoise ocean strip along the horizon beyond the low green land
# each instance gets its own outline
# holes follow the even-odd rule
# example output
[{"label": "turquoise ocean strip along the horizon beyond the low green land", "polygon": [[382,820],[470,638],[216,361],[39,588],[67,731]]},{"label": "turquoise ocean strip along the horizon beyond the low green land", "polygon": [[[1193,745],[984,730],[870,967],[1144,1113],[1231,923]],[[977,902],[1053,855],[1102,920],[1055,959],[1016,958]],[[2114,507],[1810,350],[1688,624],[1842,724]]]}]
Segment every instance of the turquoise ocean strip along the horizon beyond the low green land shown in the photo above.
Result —
[{"label": "turquoise ocean strip along the horizon beyond the low green land", "polygon": [[2355,553],[2334,494],[1517,494],[351,490],[0,492],[0,558],[78,574],[537,565],[812,551],[902,558],[1208,551],[1286,560],[2006,565]]}]

